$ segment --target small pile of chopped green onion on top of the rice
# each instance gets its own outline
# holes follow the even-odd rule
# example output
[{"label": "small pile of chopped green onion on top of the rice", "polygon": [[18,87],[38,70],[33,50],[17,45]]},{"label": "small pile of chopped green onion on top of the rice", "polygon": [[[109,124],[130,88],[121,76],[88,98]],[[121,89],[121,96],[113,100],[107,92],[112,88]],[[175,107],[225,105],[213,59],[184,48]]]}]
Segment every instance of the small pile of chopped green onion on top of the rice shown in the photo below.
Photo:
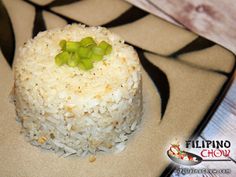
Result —
[{"label": "small pile of chopped green onion on top of the rice", "polygon": [[92,69],[94,62],[101,61],[112,51],[112,46],[106,41],[97,45],[92,37],[85,37],[81,41],[61,40],[59,45],[61,53],[55,56],[56,65],[78,66],[82,70]]}]

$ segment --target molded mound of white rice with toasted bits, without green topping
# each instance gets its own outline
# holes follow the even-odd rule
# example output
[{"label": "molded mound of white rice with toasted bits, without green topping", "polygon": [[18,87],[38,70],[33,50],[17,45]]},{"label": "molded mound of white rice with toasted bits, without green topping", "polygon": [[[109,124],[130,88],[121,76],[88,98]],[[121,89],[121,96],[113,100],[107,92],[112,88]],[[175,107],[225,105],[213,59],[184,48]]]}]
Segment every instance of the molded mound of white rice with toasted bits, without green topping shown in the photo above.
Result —
[{"label": "molded mound of white rice with toasted bits, without green topping", "polygon": [[[107,41],[110,55],[83,71],[57,66],[62,39]],[[134,49],[102,27],[67,25],[29,40],[14,64],[18,119],[30,143],[64,156],[125,148],[141,121],[141,67]]]}]

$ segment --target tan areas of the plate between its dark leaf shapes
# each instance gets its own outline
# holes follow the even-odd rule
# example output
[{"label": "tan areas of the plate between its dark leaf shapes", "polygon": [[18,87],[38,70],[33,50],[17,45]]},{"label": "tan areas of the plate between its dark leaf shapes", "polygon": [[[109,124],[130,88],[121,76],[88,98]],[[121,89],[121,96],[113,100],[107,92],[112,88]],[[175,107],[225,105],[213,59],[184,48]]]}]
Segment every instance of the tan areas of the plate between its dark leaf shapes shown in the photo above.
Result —
[{"label": "tan areas of the plate between its dark leaf shapes", "polygon": [[[34,7],[18,0],[3,2],[13,22],[18,48],[32,35]],[[111,21],[131,7],[130,4],[119,0],[99,2],[81,1],[73,5],[54,7],[54,10],[60,14],[68,14],[78,21],[98,25]],[[79,8],[84,13],[86,8],[90,11],[95,8],[96,14],[78,13],[72,16]],[[48,28],[66,24],[61,17],[48,11],[43,11],[43,17]],[[97,160],[93,163],[89,162],[88,157],[60,158],[52,152],[30,145],[20,134],[20,125],[15,121],[14,107],[8,99],[13,81],[12,72],[1,55],[0,176],[159,176],[170,163],[166,155],[170,143],[176,138],[183,141],[192,135],[226,81],[227,77],[216,71],[228,73],[235,62],[234,56],[220,46],[193,50],[180,55],[180,59],[168,58],[167,55],[186,46],[198,36],[152,15],[130,24],[113,27],[111,30],[123,36],[129,43],[156,53],[144,52],[146,58],[165,73],[169,82],[170,97],[162,120],[160,94],[150,76],[143,70],[143,122],[127,148],[119,154],[98,154]],[[156,77],[159,77],[158,73]]]}]

